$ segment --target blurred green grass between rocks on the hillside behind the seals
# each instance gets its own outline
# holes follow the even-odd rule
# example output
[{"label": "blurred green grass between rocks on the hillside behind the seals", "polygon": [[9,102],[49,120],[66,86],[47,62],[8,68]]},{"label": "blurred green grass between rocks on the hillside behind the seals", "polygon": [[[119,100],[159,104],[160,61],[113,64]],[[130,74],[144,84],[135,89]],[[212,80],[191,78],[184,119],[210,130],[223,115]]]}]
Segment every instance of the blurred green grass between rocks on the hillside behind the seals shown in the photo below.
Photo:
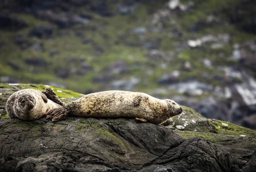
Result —
[{"label": "blurred green grass between rocks on the hillside behind the seals", "polygon": [[[38,20],[30,14],[14,14],[26,21],[29,27],[17,32],[1,31],[0,42],[4,43],[5,46],[1,47],[0,51],[0,76],[12,76],[26,83],[55,82],[83,94],[108,89],[106,83],[93,82],[94,78],[106,74],[116,80],[129,80],[131,77],[139,78],[140,84],[134,87],[134,91],[140,92],[151,92],[153,89],[159,88],[157,82],[160,77],[175,70],[180,70],[180,81],[195,78],[213,86],[221,86],[222,82],[213,76],[220,76],[224,73],[215,67],[204,66],[202,60],[208,58],[212,60],[215,66],[239,65],[227,58],[232,54],[233,43],[255,38],[255,35],[241,32],[232,24],[215,23],[213,26],[208,26],[207,17],[209,15],[214,14],[215,18],[227,20],[223,11],[227,7],[230,9],[235,7],[239,0],[193,0],[194,6],[191,10],[177,14],[171,13],[171,17],[166,17],[158,23],[152,23],[152,18],[159,9],[164,8],[165,1],[141,4],[129,15],[118,14],[116,12],[117,3],[109,2],[111,2],[109,8],[116,13],[113,17],[102,17],[90,11],[87,6],[81,6],[76,10],[70,9],[71,13],[76,14],[87,11],[87,14],[92,15],[93,20],[86,25],[80,24],[69,29],[58,29],[54,24],[46,20]],[[187,4],[189,1],[184,0],[182,3]],[[198,22],[204,23],[205,26],[199,28],[198,31],[192,31]],[[51,25],[54,28],[51,39],[29,37],[31,29],[46,25]],[[137,27],[145,27],[147,31],[145,34],[134,33],[133,29]],[[96,31],[93,28],[97,28]],[[152,28],[159,31],[151,31]],[[182,38],[177,39],[177,35],[171,34],[174,30],[180,32],[183,35]],[[83,36],[76,36],[76,32]],[[198,49],[186,47],[180,52],[176,51],[178,45],[185,44],[186,40],[200,38],[207,34],[218,37],[220,34],[227,33],[232,34],[231,42],[219,49],[211,49],[211,44],[206,43]],[[59,34],[64,36],[60,37]],[[44,50],[21,49],[14,43],[17,35],[22,35],[27,39],[28,45],[43,44]],[[84,40],[90,40],[92,44],[84,44]],[[148,57],[149,50],[144,47],[145,42],[148,41],[156,44],[157,49],[163,51],[165,56],[170,53],[174,54],[173,59],[166,60],[165,57],[151,59]],[[57,53],[51,56],[51,52]],[[223,55],[220,56],[219,54]],[[31,57],[44,60],[47,65],[32,66],[25,63],[25,59]],[[70,57],[77,60],[72,61]],[[112,73],[110,65],[117,60],[123,60],[128,65],[128,72]],[[76,70],[82,70],[81,61],[92,66],[92,70],[78,74],[79,72]],[[186,61],[191,63],[192,71],[182,69]],[[10,65],[10,62],[17,64],[18,68]],[[162,64],[168,67],[161,67]],[[153,72],[152,74],[147,73],[150,70]],[[67,71],[68,74],[61,78],[56,74],[58,71]],[[211,75],[205,78],[203,77],[205,73]],[[57,94],[60,97],[65,97],[64,93]]]}]

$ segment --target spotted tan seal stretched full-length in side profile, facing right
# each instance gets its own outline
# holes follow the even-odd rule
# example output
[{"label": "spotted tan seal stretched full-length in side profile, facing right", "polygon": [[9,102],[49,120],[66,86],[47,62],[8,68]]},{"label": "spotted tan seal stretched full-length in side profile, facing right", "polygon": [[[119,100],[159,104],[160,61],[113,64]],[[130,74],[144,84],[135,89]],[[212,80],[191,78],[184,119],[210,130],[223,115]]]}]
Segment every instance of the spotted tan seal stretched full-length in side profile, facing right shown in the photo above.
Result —
[{"label": "spotted tan seal stretched full-length in side profile, facing right", "polygon": [[52,109],[48,112],[47,118],[58,121],[70,114],[76,117],[94,118],[127,117],[161,124],[182,112],[182,108],[174,100],[160,100],[140,92],[112,90],[88,94]]}]

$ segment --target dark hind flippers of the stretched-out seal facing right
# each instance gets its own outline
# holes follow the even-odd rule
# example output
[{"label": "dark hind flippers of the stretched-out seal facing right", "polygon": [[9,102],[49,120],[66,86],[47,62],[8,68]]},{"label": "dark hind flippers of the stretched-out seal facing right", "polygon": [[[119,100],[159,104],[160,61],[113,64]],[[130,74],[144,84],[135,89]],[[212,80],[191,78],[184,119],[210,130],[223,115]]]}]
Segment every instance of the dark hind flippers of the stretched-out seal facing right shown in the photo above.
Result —
[{"label": "dark hind flippers of the stretched-out seal facing right", "polygon": [[70,109],[67,106],[61,106],[55,109],[51,109],[47,113],[46,119],[52,118],[52,121],[64,120],[69,112]]}]

